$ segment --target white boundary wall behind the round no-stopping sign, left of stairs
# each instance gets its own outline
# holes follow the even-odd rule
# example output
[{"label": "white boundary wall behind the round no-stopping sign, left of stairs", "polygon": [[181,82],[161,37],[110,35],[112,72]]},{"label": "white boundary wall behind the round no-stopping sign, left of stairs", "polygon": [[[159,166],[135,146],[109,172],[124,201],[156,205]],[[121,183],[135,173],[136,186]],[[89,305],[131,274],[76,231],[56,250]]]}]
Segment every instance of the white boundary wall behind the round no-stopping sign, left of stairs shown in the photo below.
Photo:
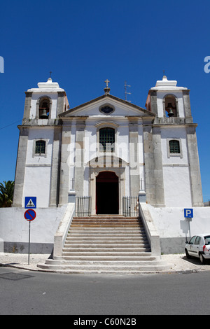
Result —
[{"label": "white boundary wall behind the round no-stopping sign, left of stairs", "polygon": [[[0,209],[0,241],[4,252],[27,253],[29,222],[25,219],[25,208]],[[52,253],[54,235],[66,205],[60,208],[38,208],[36,218],[31,221],[31,253]],[[2,247],[3,244],[3,247]]]}]

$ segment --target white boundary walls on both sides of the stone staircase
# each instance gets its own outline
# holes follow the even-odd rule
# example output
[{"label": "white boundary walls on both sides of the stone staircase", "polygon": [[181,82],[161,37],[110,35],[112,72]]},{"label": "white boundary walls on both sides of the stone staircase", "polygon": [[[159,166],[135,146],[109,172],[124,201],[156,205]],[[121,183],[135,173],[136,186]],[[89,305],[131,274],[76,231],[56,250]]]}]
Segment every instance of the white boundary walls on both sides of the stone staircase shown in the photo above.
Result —
[{"label": "white boundary walls on both sides of the stone staircase", "polygon": [[[144,204],[160,235],[161,253],[184,253],[185,241],[199,233],[210,234],[210,207],[193,208],[194,218],[189,225],[184,218],[184,208],[155,208]],[[67,204],[58,208],[38,208],[31,222],[31,253],[52,253],[54,237],[64,218]],[[190,207],[189,207],[190,208]],[[29,222],[24,208],[0,209],[0,251],[27,253]]]}]

